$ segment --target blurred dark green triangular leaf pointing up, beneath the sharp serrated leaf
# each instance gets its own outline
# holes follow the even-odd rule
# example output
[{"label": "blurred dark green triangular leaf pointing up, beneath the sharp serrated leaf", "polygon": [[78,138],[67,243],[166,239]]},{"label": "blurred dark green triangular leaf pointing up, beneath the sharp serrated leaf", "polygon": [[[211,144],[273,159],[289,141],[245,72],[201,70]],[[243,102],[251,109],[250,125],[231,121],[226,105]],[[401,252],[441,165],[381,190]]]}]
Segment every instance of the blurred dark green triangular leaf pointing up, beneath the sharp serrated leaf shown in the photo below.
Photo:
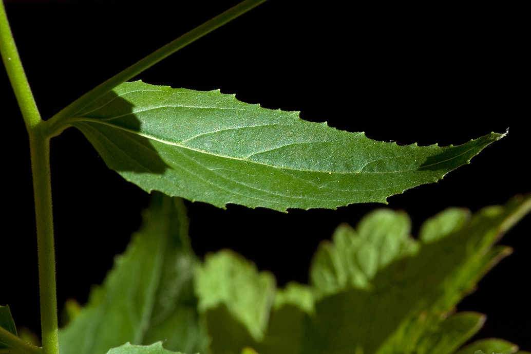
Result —
[{"label": "blurred dark green triangular leaf pointing up, beneath the sharp serrated leaf", "polygon": [[[182,201],[159,194],[143,227],[89,304],[59,333],[62,354],[104,354],[125,342],[203,351],[208,345],[193,294],[197,262]],[[128,349],[129,350],[129,349]]]}]

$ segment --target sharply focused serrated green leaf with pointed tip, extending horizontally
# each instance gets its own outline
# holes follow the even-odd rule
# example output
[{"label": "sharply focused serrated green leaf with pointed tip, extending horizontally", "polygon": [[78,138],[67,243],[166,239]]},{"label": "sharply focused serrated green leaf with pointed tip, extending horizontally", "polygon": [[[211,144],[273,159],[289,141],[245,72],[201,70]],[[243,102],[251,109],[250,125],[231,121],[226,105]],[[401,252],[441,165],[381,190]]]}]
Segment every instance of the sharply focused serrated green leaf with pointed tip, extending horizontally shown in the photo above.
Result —
[{"label": "sharply focused serrated green leaf with pointed tip, extending horizontally", "polygon": [[451,170],[505,134],[460,146],[373,141],[234,95],[125,82],[64,124],[146,191],[248,207],[336,208],[377,201]]}]

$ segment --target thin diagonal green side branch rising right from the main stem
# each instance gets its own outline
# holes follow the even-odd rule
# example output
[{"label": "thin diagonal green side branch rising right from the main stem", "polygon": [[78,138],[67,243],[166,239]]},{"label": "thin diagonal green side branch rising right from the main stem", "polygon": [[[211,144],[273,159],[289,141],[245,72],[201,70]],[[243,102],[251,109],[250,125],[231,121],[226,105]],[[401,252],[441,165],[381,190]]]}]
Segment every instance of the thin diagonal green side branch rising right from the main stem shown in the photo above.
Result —
[{"label": "thin diagonal green side branch rising right from the main stem", "polygon": [[215,18],[201,24],[201,26],[196,27],[190,32],[187,32],[181,37],[171,41],[164,47],[155,50],[155,52],[134,63],[124,71],[114,75],[112,78],[93,88],[80,98],[76,99],[70,105],[63,108],[61,112],[58,112],[56,115],[54,115],[47,122],[49,124],[48,134],[50,136],[55,136],[61,133],[61,131],[66,128],[64,120],[74,116],[77,112],[80,111],[80,109],[82,109],[88,103],[93,102],[93,100],[106,94],[116,86],[120,85],[122,82],[134,78],[142,71],[150,68],[150,66],[160,62],[167,56],[177,52],[177,50],[189,45],[190,43],[203,37],[204,35],[207,35],[207,33],[210,33],[216,28],[223,26],[225,23],[234,20],[238,16],[244,14],[245,12],[253,9],[253,7],[260,5],[265,1],[266,0],[245,0],[239,3],[238,5],[231,7],[229,10],[217,15]]}]

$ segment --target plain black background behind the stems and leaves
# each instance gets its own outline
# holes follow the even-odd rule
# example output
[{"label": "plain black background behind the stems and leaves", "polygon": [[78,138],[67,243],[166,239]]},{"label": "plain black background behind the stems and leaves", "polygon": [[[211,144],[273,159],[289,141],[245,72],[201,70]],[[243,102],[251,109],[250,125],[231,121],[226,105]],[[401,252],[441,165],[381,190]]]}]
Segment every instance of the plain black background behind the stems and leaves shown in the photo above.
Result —
[{"label": "plain black background behind the stems and leaves", "polygon": [[[8,18],[42,117],[236,1],[8,1]],[[448,206],[477,210],[530,191],[524,99],[523,9],[509,4],[270,0],[153,66],[136,79],[221,89],[247,103],[301,111],[305,120],[407,145],[463,144],[504,132],[470,165],[389,198],[413,234]],[[0,305],[39,332],[35,218],[27,133],[0,70],[4,124],[4,228]],[[110,171],[82,134],[52,140],[59,308],[87,301],[140,226],[149,196]],[[226,210],[187,203],[195,251],[232,248],[279,285],[307,281],[313,251],[341,223],[381,204],[338,210]],[[527,217],[501,243],[513,255],[486,275],[459,310],[489,317],[475,338],[531,350]]]}]

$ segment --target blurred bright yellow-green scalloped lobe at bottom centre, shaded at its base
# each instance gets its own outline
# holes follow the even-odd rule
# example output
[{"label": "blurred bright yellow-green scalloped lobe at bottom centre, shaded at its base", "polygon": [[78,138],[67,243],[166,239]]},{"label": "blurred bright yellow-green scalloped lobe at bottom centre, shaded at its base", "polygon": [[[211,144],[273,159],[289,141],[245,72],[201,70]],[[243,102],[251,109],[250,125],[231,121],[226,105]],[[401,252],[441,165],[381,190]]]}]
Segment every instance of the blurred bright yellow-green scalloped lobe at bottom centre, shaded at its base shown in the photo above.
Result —
[{"label": "blurred bright yellow-green scalloped lobe at bottom centre, shaded at its base", "polygon": [[248,343],[263,339],[275,296],[272,274],[258,273],[249,261],[225,250],[205,257],[196,271],[195,292],[214,352],[233,348],[239,354]]}]

